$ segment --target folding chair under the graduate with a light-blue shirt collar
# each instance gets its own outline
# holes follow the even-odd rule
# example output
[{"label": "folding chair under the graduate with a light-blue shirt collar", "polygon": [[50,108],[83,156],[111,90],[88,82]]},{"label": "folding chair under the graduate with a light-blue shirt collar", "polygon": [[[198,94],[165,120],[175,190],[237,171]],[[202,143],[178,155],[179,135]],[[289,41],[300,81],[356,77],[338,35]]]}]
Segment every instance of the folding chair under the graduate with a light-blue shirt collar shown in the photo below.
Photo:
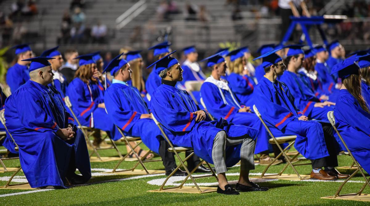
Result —
[{"label": "folding chair under the graduate with a light-blue shirt collar", "polygon": [[[144,160],[147,157],[147,155],[152,152],[151,150],[149,150],[143,157],[140,158],[139,155],[137,154],[137,152],[135,152],[135,148],[138,147],[139,144],[142,143],[141,138],[140,137],[128,137],[128,136],[126,136],[123,133],[123,131],[121,130],[121,128],[119,128],[117,125],[116,125],[116,127],[117,127],[118,131],[120,131],[120,133],[122,135],[121,140],[124,141],[128,145],[128,147],[130,148],[130,151],[127,151],[127,154],[124,157],[122,157],[121,160],[114,166],[114,169],[113,169],[112,173],[114,173],[114,172],[126,172],[126,171],[132,171],[132,172],[134,172],[135,168],[137,168],[137,166],[139,164],[144,168],[144,171],[145,171],[146,174],[157,173],[157,172],[153,172],[153,171],[148,171],[148,169],[145,167],[144,163],[145,162],[159,162],[159,161],[162,161],[162,159]],[[130,142],[135,142],[136,143],[135,146],[132,147],[131,144],[130,144]],[[130,168],[130,169],[124,169],[124,170],[117,171],[118,166],[120,166],[120,164],[125,160],[125,158],[128,157],[128,155],[131,152],[135,155],[135,157],[137,158],[138,162],[132,168]]]}]

